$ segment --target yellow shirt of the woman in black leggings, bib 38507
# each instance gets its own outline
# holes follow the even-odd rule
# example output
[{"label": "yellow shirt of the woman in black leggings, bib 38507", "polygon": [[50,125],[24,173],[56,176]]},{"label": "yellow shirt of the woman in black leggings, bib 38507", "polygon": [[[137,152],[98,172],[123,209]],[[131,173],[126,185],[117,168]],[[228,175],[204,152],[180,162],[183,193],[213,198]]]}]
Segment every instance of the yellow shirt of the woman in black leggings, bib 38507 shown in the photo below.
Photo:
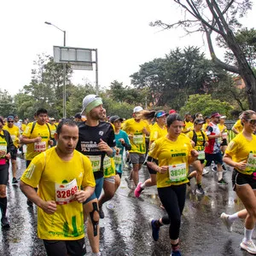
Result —
[{"label": "yellow shirt of the woman in black leggings, bib 38507", "polygon": [[161,137],[150,147],[148,156],[158,160],[159,166],[169,166],[169,172],[157,172],[157,188],[188,183],[189,156],[192,150],[190,140],[181,134],[176,142]]}]

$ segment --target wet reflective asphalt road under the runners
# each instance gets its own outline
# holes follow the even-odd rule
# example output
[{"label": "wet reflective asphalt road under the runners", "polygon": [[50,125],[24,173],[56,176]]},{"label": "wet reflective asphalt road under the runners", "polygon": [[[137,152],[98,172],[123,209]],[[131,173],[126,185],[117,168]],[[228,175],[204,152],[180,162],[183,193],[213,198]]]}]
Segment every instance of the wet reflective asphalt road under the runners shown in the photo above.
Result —
[{"label": "wet reflective asphalt road under the runners", "polygon": [[[21,168],[17,177],[25,170],[25,161],[20,160]],[[103,205],[105,218],[100,221],[102,255],[170,255],[171,244],[168,227],[160,229],[159,241],[151,236],[149,218],[160,218],[165,211],[160,208],[160,201],[155,187],[145,189],[140,198],[135,198],[133,191],[127,188],[125,170],[121,185],[112,201]],[[140,171],[140,180],[148,178],[148,171]],[[250,255],[242,251],[240,242],[243,237],[243,222],[233,224],[233,232],[226,230],[219,218],[222,212],[233,213],[243,208],[231,188],[231,172],[224,172],[227,186],[216,183],[215,172],[203,177],[202,186],[205,195],[195,195],[195,182],[187,189],[187,201],[183,211],[180,232],[181,252],[186,255]],[[11,172],[9,180],[11,180]],[[11,223],[9,230],[0,229],[0,255],[46,255],[44,245],[37,238],[36,207],[26,206],[26,197],[19,185],[8,186],[8,216]],[[255,239],[255,234],[253,239]],[[90,246],[86,238],[87,253]]]}]

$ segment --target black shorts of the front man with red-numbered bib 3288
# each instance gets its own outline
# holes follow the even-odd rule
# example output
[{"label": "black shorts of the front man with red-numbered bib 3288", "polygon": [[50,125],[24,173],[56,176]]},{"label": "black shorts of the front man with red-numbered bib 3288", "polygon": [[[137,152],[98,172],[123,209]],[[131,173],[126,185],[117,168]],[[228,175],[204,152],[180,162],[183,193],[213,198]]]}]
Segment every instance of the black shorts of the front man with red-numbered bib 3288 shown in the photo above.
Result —
[{"label": "black shorts of the front man with red-numbered bib 3288", "polygon": [[44,247],[48,256],[82,256],[86,253],[84,238],[68,241],[44,240]]}]

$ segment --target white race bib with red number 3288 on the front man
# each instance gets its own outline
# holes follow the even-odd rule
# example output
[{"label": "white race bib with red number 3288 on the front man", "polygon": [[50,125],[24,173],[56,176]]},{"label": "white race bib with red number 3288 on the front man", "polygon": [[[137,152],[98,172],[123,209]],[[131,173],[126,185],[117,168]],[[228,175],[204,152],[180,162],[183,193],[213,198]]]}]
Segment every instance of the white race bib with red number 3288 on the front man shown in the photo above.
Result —
[{"label": "white race bib with red number 3288 on the front man", "polygon": [[70,183],[55,183],[55,201],[57,205],[67,205],[74,201],[74,194],[78,191],[76,178]]}]

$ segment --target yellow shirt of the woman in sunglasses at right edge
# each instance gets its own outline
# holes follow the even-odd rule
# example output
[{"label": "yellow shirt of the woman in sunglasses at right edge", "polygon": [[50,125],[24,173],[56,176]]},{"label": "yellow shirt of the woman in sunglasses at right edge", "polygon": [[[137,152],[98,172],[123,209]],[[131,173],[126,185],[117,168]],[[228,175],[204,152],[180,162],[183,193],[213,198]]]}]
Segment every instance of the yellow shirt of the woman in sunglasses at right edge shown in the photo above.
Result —
[{"label": "yellow shirt of the woman in sunglasses at right edge", "polygon": [[229,154],[232,160],[239,163],[243,160],[247,160],[247,167],[245,171],[237,169],[238,172],[250,175],[256,172],[256,136],[253,135],[253,139],[248,141],[242,133],[236,135],[236,137],[229,143],[225,154]]}]

